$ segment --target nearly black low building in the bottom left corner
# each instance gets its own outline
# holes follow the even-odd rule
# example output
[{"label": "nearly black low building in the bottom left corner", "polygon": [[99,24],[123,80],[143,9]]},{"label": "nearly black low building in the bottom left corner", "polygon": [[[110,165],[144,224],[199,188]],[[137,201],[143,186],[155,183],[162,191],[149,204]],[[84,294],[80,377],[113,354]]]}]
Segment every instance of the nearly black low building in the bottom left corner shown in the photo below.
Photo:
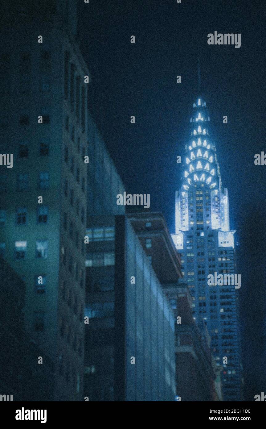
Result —
[{"label": "nearly black low building in the bottom left corner", "polygon": [[13,395],[13,401],[51,401],[54,367],[23,330],[24,296],[24,281],[0,258],[0,394]]}]

